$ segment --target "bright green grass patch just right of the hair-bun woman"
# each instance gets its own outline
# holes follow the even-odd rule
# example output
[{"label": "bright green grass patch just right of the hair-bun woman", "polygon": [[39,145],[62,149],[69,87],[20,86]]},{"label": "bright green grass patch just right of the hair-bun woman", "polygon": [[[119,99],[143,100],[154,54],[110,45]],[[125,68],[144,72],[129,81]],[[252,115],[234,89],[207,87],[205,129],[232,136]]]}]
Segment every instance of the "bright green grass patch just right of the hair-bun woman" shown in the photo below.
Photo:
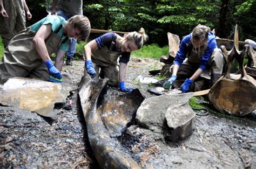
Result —
[{"label": "bright green grass patch just right of the hair-bun woman", "polygon": [[135,58],[154,58],[159,59],[162,55],[169,55],[169,47],[159,47],[157,44],[144,45],[140,50],[131,52]]}]

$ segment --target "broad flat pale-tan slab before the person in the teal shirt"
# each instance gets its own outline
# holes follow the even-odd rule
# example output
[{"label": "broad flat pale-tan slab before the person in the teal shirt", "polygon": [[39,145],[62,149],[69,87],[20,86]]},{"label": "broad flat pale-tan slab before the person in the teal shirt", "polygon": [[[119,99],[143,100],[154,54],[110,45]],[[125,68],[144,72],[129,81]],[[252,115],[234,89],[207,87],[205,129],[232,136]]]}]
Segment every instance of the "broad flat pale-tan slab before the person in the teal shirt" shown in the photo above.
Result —
[{"label": "broad flat pale-tan slab before the person in the teal shirt", "polygon": [[74,86],[68,83],[61,85],[32,78],[10,78],[0,85],[0,103],[53,117],[59,112],[54,109],[55,104],[65,103],[72,89]]}]

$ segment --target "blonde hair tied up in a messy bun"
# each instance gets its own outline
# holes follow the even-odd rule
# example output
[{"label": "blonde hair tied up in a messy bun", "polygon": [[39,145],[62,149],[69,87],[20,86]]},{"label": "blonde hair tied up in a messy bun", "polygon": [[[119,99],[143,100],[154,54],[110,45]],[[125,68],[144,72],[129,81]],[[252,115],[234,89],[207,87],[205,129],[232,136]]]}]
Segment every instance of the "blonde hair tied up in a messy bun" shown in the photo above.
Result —
[{"label": "blonde hair tied up in a messy bun", "polygon": [[125,37],[127,40],[133,41],[134,44],[138,46],[138,49],[141,48],[145,41],[149,38],[145,34],[145,30],[142,27],[140,28],[139,33],[136,31],[130,32],[125,34]]}]

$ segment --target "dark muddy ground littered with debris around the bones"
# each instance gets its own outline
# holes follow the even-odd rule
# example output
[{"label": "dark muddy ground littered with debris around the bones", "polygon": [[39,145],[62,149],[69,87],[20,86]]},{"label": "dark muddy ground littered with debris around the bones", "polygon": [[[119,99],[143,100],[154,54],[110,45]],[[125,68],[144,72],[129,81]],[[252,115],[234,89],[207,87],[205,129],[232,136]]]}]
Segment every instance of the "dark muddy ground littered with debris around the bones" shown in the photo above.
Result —
[{"label": "dark muddy ground littered with debris around the bones", "polygon": [[[129,87],[153,97],[148,86],[135,79],[161,68],[158,60],[131,59],[126,76]],[[64,66],[75,85],[83,75],[84,61]],[[198,97],[200,100],[200,97]],[[206,98],[207,99],[207,98]],[[217,112],[206,102],[207,116],[194,118],[194,131],[179,143],[134,122],[120,143],[145,168],[256,168],[256,112],[233,117]],[[77,90],[53,118],[17,108],[0,107],[0,167],[99,168],[87,139]]]}]

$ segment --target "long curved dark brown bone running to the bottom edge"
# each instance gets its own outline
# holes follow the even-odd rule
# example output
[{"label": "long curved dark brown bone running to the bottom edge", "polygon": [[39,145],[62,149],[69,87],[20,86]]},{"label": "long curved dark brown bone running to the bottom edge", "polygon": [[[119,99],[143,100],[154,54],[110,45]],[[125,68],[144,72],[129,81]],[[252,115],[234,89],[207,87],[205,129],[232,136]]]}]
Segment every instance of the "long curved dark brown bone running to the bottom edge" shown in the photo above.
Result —
[{"label": "long curved dark brown bone running to the bottom edge", "polygon": [[[93,153],[102,168],[140,168],[129,154],[122,151],[122,146],[120,146],[118,140],[110,137],[110,132],[105,127],[102,117],[100,116],[99,109],[101,109],[101,104],[99,100],[105,100],[105,98],[103,98],[104,92],[102,91],[106,89],[107,81],[107,79],[104,79],[96,82],[89,77],[84,77],[79,86],[80,102]],[[117,101],[120,99],[118,97],[113,100]],[[123,102],[125,104],[126,100],[123,100]],[[103,107],[102,110],[106,110],[107,104]],[[112,108],[113,107],[114,105]]]}]

